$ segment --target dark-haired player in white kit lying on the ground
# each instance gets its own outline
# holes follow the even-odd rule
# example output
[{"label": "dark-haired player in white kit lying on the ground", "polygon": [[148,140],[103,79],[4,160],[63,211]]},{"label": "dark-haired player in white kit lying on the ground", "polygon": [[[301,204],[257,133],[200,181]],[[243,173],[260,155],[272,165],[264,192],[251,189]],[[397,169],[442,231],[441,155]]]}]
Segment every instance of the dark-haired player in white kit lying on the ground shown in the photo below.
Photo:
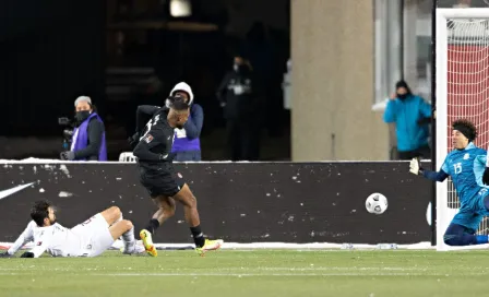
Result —
[{"label": "dark-haired player in white kit lying on the ground", "polygon": [[31,217],[33,221],[1,257],[12,257],[29,241],[34,241],[34,248],[21,258],[38,258],[45,251],[52,257],[97,257],[120,237],[124,241],[123,253],[144,251],[142,246],[136,245],[131,221],[122,219],[122,213],[117,206],[97,213],[71,229],[56,223],[55,207],[48,201],[35,202]]}]

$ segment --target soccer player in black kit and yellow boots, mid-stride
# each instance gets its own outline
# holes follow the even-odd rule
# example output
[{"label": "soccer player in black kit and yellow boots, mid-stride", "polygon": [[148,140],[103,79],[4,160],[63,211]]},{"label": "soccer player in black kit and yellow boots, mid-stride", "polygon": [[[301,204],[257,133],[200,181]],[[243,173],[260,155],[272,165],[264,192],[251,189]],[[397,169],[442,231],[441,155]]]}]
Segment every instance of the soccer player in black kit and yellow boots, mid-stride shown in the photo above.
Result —
[{"label": "soccer player in black kit and yellow boots, mid-stride", "polygon": [[[189,104],[183,97],[170,97],[169,107],[140,106],[136,114],[136,135],[139,140],[133,154],[138,157],[141,183],[150,192],[152,200],[158,206],[147,227],[140,233],[146,252],[157,256],[152,240],[152,234],[166,219],[174,216],[176,201],[183,205],[187,223],[195,241],[195,250],[203,254],[208,250],[220,248],[223,240],[204,238],[200,226],[196,199],[183,181],[180,174],[174,170],[171,145],[174,143],[174,129],[181,129],[189,118]],[[144,116],[151,120],[144,124]]]}]

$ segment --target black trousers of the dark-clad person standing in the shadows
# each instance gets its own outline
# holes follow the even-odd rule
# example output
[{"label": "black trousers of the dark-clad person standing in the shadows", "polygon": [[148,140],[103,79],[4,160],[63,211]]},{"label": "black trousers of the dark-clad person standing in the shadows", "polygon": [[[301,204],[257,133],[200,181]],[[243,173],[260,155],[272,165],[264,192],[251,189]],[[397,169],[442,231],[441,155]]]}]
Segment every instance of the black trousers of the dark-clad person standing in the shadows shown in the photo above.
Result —
[{"label": "black trousers of the dark-clad person standing in the shadows", "polygon": [[259,161],[260,126],[258,121],[228,120],[227,143],[231,161]]}]

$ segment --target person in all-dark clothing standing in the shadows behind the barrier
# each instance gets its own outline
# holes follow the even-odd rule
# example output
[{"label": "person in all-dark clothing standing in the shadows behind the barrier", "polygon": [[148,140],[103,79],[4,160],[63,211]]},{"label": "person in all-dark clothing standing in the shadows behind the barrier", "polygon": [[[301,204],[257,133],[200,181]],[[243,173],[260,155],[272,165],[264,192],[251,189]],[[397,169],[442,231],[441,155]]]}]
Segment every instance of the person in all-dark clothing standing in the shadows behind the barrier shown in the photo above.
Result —
[{"label": "person in all-dark clothing standing in the shadows behind the barrier", "polygon": [[224,76],[216,94],[224,108],[231,161],[259,159],[259,93],[251,64],[241,56],[236,56],[232,71]]}]

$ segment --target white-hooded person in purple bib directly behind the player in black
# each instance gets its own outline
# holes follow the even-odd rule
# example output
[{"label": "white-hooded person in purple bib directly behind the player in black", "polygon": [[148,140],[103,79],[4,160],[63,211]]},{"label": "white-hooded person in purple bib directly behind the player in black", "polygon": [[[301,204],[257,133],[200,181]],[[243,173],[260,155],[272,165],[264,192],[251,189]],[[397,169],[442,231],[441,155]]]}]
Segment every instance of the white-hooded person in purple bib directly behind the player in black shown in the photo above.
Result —
[{"label": "white-hooded person in purple bib directly behind the player in black", "polygon": [[175,129],[175,140],[171,148],[171,153],[175,155],[174,161],[201,161],[201,142],[199,138],[204,123],[204,110],[199,104],[193,103],[192,88],[184,82],[178,83],[171,90],[170,96],[183,97],[190,105],[189,120],[182,129]]}]

